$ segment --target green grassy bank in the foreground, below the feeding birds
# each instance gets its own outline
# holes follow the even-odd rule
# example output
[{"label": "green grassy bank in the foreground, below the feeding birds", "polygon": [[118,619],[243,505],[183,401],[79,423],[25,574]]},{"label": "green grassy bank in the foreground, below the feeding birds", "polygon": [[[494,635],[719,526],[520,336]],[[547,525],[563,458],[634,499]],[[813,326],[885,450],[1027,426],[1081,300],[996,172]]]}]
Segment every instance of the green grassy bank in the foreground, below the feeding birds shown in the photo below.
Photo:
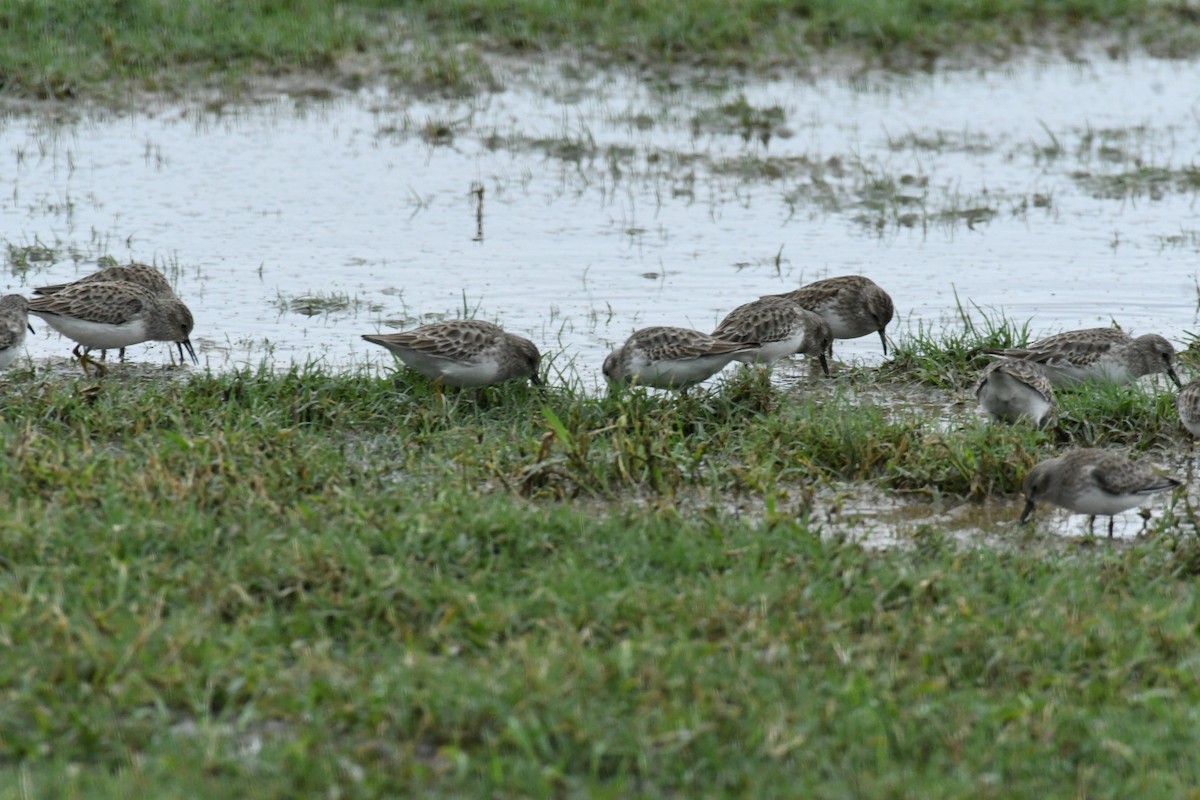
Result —
[{"label": "green grassy bank in the foreground, below the feeding birds", "polygon": [[[1186,794],[1194,519],[822,536],[826,482],[1012,493],[1054,447],[914,387],[10,371],[0,795]],[[1100,443],[1177,441],[1129,397]]]}]

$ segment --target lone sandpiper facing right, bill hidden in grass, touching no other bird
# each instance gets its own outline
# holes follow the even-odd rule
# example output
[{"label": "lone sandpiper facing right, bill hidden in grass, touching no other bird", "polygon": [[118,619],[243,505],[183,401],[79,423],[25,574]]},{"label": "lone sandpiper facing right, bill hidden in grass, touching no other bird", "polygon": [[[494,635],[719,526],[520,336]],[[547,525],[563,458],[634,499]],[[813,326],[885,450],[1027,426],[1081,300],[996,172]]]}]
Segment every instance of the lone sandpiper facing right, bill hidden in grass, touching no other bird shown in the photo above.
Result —
[{"label": "lone sandpiper facing right, bill hidden in grass, touching no other bird", "polygon": [[541,385],[541,353],[527,338],[478,319],[421,325],[400,333],[366,333],[367,342],[391,350],[408,367],[446,386],[487,386],[514,378]]}]

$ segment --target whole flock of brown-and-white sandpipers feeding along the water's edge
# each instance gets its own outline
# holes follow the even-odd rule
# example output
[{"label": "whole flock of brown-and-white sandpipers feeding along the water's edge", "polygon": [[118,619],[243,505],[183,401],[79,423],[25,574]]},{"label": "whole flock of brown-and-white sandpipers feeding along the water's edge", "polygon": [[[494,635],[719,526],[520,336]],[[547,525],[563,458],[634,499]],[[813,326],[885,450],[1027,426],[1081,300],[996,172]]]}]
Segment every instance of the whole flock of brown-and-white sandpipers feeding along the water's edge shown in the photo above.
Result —
[{"label": "whole flock of brown-and-white sandpipers feeding along the water's edge", "polygon": [[[84,373],[103,374],[91,350],[121,350],[148,341],[176,344],[180,362],[191,343],[192,313],[167,278],[152,266],[110,266],[71,283],[34,289],[35,297],[0,297],[0,368],[20,350],[29,315],[76,342],[72,354]],[[731,311],[712,333],[686,327],[653,326],[635,331],[604,361],[613,386],[688,389],[734,361],[769,367],[780,359],[806,355],[829,375],[835,339],[878,333],[884,355],[887,326],[895,315],[892,297],[859,275],[816,281],[793,291],[766,295]],[[541,353],[527,338],[481,320],[461,319],[421,325],[409,331],[364,335],[439,387],[478,387],[528,379],[541,385]],[[1176,408],[1183,426],[1200,437],[1200,380],[1182,386],[1175,372],[1175,348],[1157,333],[1133,337],[1115,327],[1067,331],[1024,348],[984,350],[996,357],[979,374],[973,393],[979,405],[1003,422],[1052,423],[1055,390],[1082,383],[1129,383],[1165,373],[1181,391]],[[103,357],[103,355],[102,355]],[[1068,450],[1037,464],[1025,477],[1026,523],[1038,501],[1073,513],[1114,516],[1146,497],[1174,489],[1180,481],[1102,449]]]}]

